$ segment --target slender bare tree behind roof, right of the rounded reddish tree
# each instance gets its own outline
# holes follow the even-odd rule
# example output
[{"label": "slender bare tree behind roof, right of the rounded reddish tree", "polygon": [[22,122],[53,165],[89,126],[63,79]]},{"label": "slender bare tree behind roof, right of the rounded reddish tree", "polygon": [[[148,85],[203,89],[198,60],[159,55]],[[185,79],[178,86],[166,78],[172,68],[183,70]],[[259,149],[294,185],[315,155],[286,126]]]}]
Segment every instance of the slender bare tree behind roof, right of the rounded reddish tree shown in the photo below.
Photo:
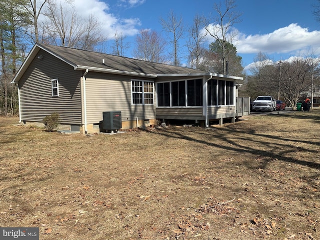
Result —
[{"label": "slender bare tree behind roof, right of the rounded reddish tree", "polygon": [[170,43],[173,45],[173,65],[178,66],[178,40],[183,34],[182,18],[177,18],[173,11],[170,10],[167,19],[160,18],[160,23],[165,31],[172,33]]}]

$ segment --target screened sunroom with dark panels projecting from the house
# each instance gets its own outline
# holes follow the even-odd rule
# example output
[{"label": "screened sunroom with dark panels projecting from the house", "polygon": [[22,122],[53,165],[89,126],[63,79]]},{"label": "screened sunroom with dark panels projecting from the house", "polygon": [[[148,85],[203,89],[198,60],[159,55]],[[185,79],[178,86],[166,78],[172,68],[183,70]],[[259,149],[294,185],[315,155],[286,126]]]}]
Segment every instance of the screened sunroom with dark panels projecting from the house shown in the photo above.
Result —
[{"label": "screened sunroom with dark panels projecting from the house", "polygon": [[[173,79],[174,78],[174,79]],[[220,74],[158,77],[156,117],[188,119],[208,125],[210,120],[236,116],[236,80],[241,77]]]}]

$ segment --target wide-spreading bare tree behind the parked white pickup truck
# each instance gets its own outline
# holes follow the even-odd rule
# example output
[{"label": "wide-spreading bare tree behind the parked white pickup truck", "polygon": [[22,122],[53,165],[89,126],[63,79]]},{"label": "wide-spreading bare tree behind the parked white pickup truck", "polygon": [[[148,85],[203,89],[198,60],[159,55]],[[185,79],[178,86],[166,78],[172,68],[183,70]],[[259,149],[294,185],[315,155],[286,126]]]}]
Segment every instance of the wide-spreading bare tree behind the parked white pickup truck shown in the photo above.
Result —
[{"label": "wide-spreading bare tree behind the parked white pickup truck", "polygon": [[[319,59],[306,56],[295,56],[287,60],[272,62],[264,53],[259,52],[254,57],[250,68],[252,75],[245,83],[246,91],[252,97],[257,95],[272,95],[283,99],[292,109],[299,97],[306,92],[311,93],[312,72],[315,79],[319,75]],[[310,96],[309,94],[308,96]]]}]

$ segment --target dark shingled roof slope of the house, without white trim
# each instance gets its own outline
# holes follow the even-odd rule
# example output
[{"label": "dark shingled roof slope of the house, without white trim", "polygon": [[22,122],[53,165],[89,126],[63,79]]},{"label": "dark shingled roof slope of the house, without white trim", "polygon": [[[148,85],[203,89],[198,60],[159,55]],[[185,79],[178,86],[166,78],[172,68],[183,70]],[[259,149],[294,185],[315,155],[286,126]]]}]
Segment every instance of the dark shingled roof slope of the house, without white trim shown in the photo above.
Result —
[{"label": "dark shingled roof slope of the house, without white trim", "polygon": [[[188,74],[205,73],[192,68],[172,66],[162,63],[138,60],[123,56],[110,55],[65,46],[38,44],[41,48],[55,53],[66,62],[75,66],[87,66],[101,69],[137,72],[144,74]],[[104,59],[104,64],[102,64]]]}]

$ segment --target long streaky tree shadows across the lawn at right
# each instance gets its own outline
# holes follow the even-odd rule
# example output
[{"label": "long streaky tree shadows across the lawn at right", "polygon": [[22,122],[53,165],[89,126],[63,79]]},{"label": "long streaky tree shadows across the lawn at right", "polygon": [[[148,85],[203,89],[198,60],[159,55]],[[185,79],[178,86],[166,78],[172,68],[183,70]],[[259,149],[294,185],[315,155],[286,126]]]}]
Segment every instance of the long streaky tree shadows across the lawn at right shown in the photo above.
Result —
[{"label": "long streaky tree shadows across the lawn at right", "polygon": [[[210,131],[210,130],[208,130]],[[318,151],[316,149],[306,149],[303,147],[293,147],[293,144],[296,142],[296,139],[290,139],[286,137],[281,137],[281,136],[274,136],[274,135],[269,135],[269,134],[260,134],[256,133],[254,130],[249,130],[249,131],[240,131],[236,129],[231,129],[228,127],[222,127],[219,128],[219,131],[210,131],[207,133],[203,132],[198,132],[198,134],[206,134],[207,138],[214,138],[218,139],[220,142],[223,142],[224,144],[221,143],[214,143],[213,141],[208,141],[208,140],[203,140],[203,139],[196,139],[188,136],[185,131],[181,131],[178,129],[175,130],[163,130],[158,132],[161,135],[164,135],[166,137],[174,137],[177,139],[185,139],[190,142],[197,142],[209,146],[216,147],[221,150],[225,151],[233,151],[236,153],[250,153],[253,155],[260,155],[266,157],[266,160],[262,165],[260,165],[260,168],[265,168],[265,166],[268,164],[268,162],[272,159],[278,159],[281,161],[285,161],[288,163],[295,163],[295,164],[300,164],[300,165],[306,165],[308,167],[320,169],[320,164],[316,162],[311,162],[311,161],[306,161],[306,160],[300,160],[296,159],[294,157],[286,157],[285,155],[287,153],[292,153],[292,152],[299,152],[299,151],[308,151],[314,154],[317,154]],[[233,134],[237,135],[236,139],[231,139],[228,138],[228,134]],[[202,137],[203,138],[203,137]],[[265,140],[258,140],[258,138],[264,138]],[[246,141],[245,145],[241,145],[239,140],[244,140]],[[285,141],[287,144],[283,143],[278,143],[278,141]],[[316,141],[315,139],[310,139],[310,140],[299,140],[300,142],[311,144],[314,146],[319,146],[320,142]],[[278,152],[273,151],[273,147],[275,142],[277,142],[278,146]],[[290,146],[289,143],[292,143]],[[256,149],[252,146],[255,145],[260,145],[263,146],[264,149]],[[279,150],[281,149],[281,150]]]}]

